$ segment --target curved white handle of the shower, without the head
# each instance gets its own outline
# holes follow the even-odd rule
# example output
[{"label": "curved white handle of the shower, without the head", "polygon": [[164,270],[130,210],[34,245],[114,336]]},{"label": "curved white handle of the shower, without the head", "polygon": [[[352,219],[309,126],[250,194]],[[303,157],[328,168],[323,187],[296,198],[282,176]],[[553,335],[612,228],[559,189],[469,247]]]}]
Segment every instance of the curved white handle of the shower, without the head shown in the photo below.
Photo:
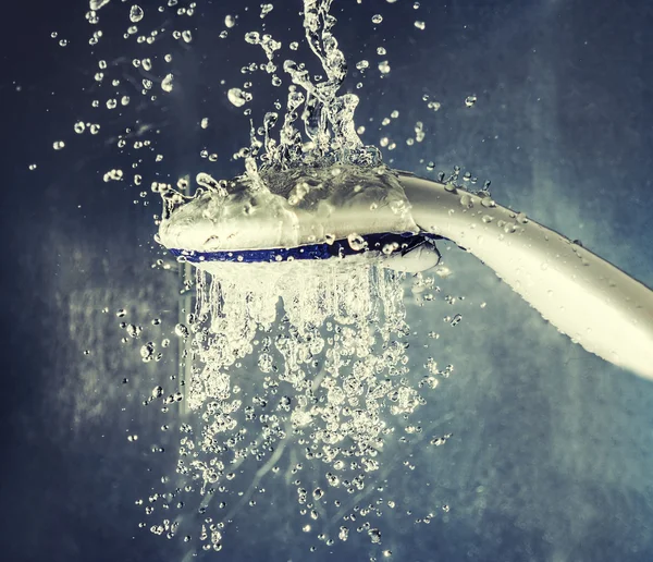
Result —
[{"label": "curved white handle of the shower, without the head", "polygon": [[653,380],[653,291],[489,197],[401,172],[415,222],[473,254],[560,332]]}]

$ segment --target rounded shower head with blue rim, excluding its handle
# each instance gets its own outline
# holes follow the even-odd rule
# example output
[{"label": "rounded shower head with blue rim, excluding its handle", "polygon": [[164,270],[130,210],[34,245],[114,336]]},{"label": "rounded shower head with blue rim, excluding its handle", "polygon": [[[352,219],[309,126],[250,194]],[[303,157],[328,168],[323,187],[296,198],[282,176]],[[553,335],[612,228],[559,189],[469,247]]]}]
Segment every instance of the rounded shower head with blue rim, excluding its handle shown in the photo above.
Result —
[{"label": "rounded shower head with blue rim, excluding its handle", "polygon": [[224,262],[337,258],[417,272],[440,258],[440,236],[415,223],[398,176],[385,167],[295,168],[213,183],[172,210],[159,236],[173,255],[209,271]]}]

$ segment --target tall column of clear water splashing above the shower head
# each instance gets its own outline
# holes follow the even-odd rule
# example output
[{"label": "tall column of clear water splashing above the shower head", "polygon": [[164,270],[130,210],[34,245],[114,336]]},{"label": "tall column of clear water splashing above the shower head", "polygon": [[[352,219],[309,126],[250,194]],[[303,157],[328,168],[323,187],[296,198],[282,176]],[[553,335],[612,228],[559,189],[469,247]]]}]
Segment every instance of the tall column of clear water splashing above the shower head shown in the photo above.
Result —
[{"label": "tall column of clear water splashing above the shower head", "polygon": [[[304,28],[307,44],[319,58],[325,76],[312,77],[304,63],[293,60],[283,62],[283,70],[289,75],[292,85],[285,106],[285,114],[281,123],[278,138],[273,138],[272,130],[280,121],[279,111],[282,105],[276,102],[276,111],[264,115],[263,125],[251,130],[250,146],[241,149],[236,158],[246,160],[249,175],[256,175],[260,159],[263,169],[284,170],[304,163],[307,158],[319,162],[330,154],[337,154],[341,161],[356,163],[371,163],[370,150],[362,147],[354,125],[354,112],[358,105],[358,97],[354,94],[337,95],[346,73],[347,65],[337,40],[332,34],[336,19],[329,13],[332,0],[305,0],[304,1]],[[270,8],[268,8],[270,7]],[[271,10],[271,4],[263,4],[261,17]],[[270,34],[249,32],[245,34],[245,41],[260,46],[268,59],[260,68],[272,76],[272,84],[280,86],[282,78],[278,75],[274,56],[281,49],[281,42],[273,39]],[[296,50],[298,45],[291,44],[291,49]],[[256,64],[243,69],[243,72],[256,70]],[[243,107],[252,99],[252,95],[245,88],[234,87],[227,91],[229,100],[235,107]],[[249,114],[249,110],[245,110]],[[301,126],[297,125],[301,122]],[[301,131],[303,129],[303,131]],[[261,140],[262,138],[262,140]]]}]

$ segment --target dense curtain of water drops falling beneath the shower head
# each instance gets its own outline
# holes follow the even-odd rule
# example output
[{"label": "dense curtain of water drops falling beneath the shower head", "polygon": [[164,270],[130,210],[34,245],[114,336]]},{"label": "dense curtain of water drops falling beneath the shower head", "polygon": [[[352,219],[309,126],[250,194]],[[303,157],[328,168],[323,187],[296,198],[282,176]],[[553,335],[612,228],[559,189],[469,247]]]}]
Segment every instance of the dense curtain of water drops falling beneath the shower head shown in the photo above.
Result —
[{"label": "dense curtain of water drops falling beneath the shower head", "polygon": [[[192,351],[185,401],[201,427],[182,426],[177,473],[195,485],[175,493],[199,491],[201,514],[218,505],[198,538],[220,550],[226,524],[256,504],[268,473],[286,465],[304,532],[332,545],[352,528],[380,545],[378,516],[394,501],[349,504],[378,485],[392,417],[407,419],[434,388],[407,377],[402,274],[342,264],[284,269],[266,279],[198,270],[183,338]],[[304,459],[288,465],[289,450]],[[243,473],[252,474],[248,485],[230,494]],[[329,535],[333,516],[343,522],[336,536]],[[174,534],[167,521],[152,532]]]}]

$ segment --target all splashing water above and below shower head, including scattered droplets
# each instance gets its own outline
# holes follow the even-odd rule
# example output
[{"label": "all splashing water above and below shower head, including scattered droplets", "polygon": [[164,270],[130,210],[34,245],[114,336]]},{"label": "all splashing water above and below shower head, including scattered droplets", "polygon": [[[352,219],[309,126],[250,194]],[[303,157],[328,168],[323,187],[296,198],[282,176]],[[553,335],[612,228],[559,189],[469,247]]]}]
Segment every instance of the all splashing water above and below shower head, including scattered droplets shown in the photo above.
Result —
[{"label": "all splashing water above and below shower head, including scattered droplets", "polygon": [[[99,10],[107,10],[109,3],[90,0],[87,20],[91,25],[98,24]],[[396,178],[382,163],[380,151],[365,146],[358,136],[354,122],[358,97],[340,93],[347,64],[333,35],[336,19],[330,13],[331,4],[332,0],[304,0],[306,44],[320,61],[323,76],[311,75],[305,63],[283,62],[283,74],[292,82],[285,113],[280,114],[283,106],[278,103],[276,111],[264,114],[261,126],[250,125],[249,146],[235,155],[244,160],[241,178],[217,181],[200,171],[193,196],[187,180],[181,180],[176,188],[160,178],[151,184],[164,203],[162,216],[156,217],[159,242],[192,251],[219,249],[226,236],[224,229],[233,223],[235,230],[227,234],[237,234],[239,243],[246,244],[248,233],[236,228],[243,213],[270,212],[275,220],[283,216],[285,221],[278,229],[279,240],[268,241],[272,245],[291,245],[289,233],[294,233],[318,242],[346,240],[353,249],[362,249],[366,232],[350,232],[348,224],[337,232],[319,228],[320,216],[353,200],[389,213],[384,220],[396,232],[417,231]],[[177,2],[169,0],[168,5]],[[175,9],[180,16],[192,16],[196,3]],[[131,5],[127,16],[124,37],[136,38],[139,45],[152,45],[165,30],[163,20],[149,33],[140,30],[157,17],[153,8]],[[273,16],[273,4],[261,4],[260,19]],[[237,16],[227,15],[226,29],[220,36],[241,24]],[[190,29],[174,29],[171,35],[181,44],[194,40]],[[258,69],[270,76],[273,86],[280,85],[283,74],[276,57],[281,41],[256,30],[244,37],[248,45],[262,49],[266,62]],[[101,38],[97,29],[89,44],[95,46]],[[296,49],[297,44],[291,44],[291,50]],[[158,95],[183,91],[183,76],[167,66],[172,60],[171,54],[135,58],[131,65],[143,77],[128,82],[155,105]],[[369,66],[365,62],[359,70]],[[94,108],[115,110],[134,105],[130,96],[118,93],[122,78],[109,78],[112,64],[120,63],[100,61],[95,80],[110,84],[114,91],[101,103],[94,100]],[[386,61],[382,66],[383,74],[390,72]],[[232,109],[239,108],[247,115],[254,99],[249,86],[225,88]],[[397,115],[394,112],[393,119]],[[209,119],[202,118],[201,129],[208,127]],[[78,121],[74,131],[97,134],[99,129],[97,123]],[[421,123],[415,132],[421,142]],[[134,150],[156,152],[151,133],[150,125],[137,120],[111,140],[121,150],[131,143]],[[63,146],[59,142],[54,148]],[[208,150],[202,156],[208,157]],[[210,161],[215,160],[213,156]],[[156,154],[157,162],[162,159]],[[106,172],[104,180],[123,181],[123,171]],[[143,181],[141,175],[134,176],[135,185]],[[315,231],[293,230],[301,213],[315,218],[305,221]],[[171,217],[176,217],[176,222]],[[185,242],[193,237],[194,245],[169,244],[181,236],[186,236]],[[389,256],[395,246],[378,253]],[[419,291],[432,285],[421,277],[419,283],[423,285]],[[297,490],[300,513],[307,520],[303,530],[321,528],[319,538],[330,546],[336,537],[347,540],[350,528],[356,528],[367,534],[372,545],[381,545],[377,518],[381,509],[370,504],[359,510],[350,499],[379,486],[382,453],[393,439],[394,422],[405,424],[426,403],[440,374],[433,363],[422,380],[409,377],[403,273],[374,260],[284,260],[261,266],[212,262],[198,264],[195,278],[186,282],[186,289],[193,288],[193,313],[175,327],[185,347],[183,392],[168,393],[157,386],[145,401],[161,401],[164,407],[185,403],[188,419],[181,425],[176,472],[177,484],[186,484],[175,488],[165,479],[164,489],[151,497],[164,497],[165,505],[173,499],[180,505],[182,500],[198,501],[202,521],[199,533],[190,530],[193,539],[198,538],[204,550],[218,551],[227,524],[243,506],[256,503],[255,492],[260,491],[266,475],[276,474],[289,463],[286,481]],[[148,342],[139,353],[149,362],[156,350]],[[190,423],[193,417],[196,423]],[[242,486],[239,480],[246,479],[248,484]],[[394,506],[392,500],[386,503]],[[209,509],[215,513],[209,516]],[[180,534],[182,517],[175,520],[164,512],[159,523],[151,524],[157,510],[150,500],[146,508],[150,530],[169,538]],[[192,540],[190,535],[186,540]],[[383,552],[390,555],[390,551]]]}]

